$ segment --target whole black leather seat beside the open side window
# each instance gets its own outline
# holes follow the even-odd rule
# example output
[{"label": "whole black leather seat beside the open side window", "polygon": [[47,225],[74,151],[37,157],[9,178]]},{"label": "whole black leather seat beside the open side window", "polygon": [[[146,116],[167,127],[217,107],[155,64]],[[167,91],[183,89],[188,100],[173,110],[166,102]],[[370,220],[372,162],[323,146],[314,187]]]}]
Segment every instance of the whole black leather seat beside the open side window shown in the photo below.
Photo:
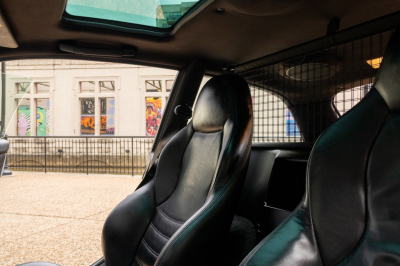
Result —
[{"label": "whole black leather seat beside the open side window", "polygon": [[154,178],[107,218],[106,265],[205,264],[210,247],[229,229],[252,127],[247,83],[230,74],[207,82],[192,122],[165,146]]}]

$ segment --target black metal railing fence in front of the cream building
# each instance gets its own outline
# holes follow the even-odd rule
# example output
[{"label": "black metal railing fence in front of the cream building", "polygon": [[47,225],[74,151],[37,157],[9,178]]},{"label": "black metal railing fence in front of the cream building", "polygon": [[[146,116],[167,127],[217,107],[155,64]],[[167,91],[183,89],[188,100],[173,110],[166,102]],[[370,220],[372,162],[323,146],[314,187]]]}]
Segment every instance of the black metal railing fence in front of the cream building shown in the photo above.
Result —
[{"label": "black metal railing fence in front of the cream building", "polygon": [[11,171],[142,175],[154,137],[8,137]]}]

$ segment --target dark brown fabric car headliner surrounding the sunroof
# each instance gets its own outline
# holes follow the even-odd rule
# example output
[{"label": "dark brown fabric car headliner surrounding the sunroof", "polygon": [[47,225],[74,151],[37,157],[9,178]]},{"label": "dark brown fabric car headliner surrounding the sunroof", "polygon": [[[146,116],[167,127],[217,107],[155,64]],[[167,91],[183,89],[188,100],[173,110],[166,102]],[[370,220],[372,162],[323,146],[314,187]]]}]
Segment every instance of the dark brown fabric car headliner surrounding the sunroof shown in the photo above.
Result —
[{"label": "dark brown fabric car headliner surrounding the sunroof", "polygon": [[[19,44],[0,47],[0,60],[18,58],[93,59],[59,50],[60,41],[77,45],[137,48],[125,62],[181,68],[194,59],[208,62],[208,73],[223,63],[245,63],[320,38],[328,23],[340,19],[340,30],[400,10],[397,0],[216,0],[172,36],[154,37],[109,29],[68,25],[62,21],[65,0],[1,0],[0,10]],[[217,12],[224,8],[224,12]],[[97,58],[98,59],[98,58]]]}]

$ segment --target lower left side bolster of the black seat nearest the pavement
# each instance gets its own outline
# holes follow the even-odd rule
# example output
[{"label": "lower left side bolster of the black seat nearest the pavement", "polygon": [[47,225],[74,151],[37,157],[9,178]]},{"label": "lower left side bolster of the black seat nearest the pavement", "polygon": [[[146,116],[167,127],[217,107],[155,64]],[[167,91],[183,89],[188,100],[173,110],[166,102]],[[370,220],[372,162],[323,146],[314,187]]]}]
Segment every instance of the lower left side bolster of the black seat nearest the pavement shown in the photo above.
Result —
[{"label": "lower left side bolster of the black seat nearest the pavement", "polygon": [[104,223],[102,248],[107,266],[131,266],[155,212],[153,180],[126,197]]}]

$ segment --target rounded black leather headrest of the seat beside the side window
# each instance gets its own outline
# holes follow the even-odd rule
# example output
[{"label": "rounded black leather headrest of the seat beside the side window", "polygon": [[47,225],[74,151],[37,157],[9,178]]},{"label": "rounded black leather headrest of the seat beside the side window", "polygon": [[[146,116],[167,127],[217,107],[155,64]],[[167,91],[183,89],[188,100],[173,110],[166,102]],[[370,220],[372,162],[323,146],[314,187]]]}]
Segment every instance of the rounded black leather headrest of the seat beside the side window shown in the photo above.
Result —
[{"label": "rounded black leather headrest of the seat beside the side window", "polygon": [[220,131],[231,115],[249,114],[249,109],[251,96],[247,82],[234,74],[216,76],[204,85],[197,98],[193,127],[203,133]]}]

